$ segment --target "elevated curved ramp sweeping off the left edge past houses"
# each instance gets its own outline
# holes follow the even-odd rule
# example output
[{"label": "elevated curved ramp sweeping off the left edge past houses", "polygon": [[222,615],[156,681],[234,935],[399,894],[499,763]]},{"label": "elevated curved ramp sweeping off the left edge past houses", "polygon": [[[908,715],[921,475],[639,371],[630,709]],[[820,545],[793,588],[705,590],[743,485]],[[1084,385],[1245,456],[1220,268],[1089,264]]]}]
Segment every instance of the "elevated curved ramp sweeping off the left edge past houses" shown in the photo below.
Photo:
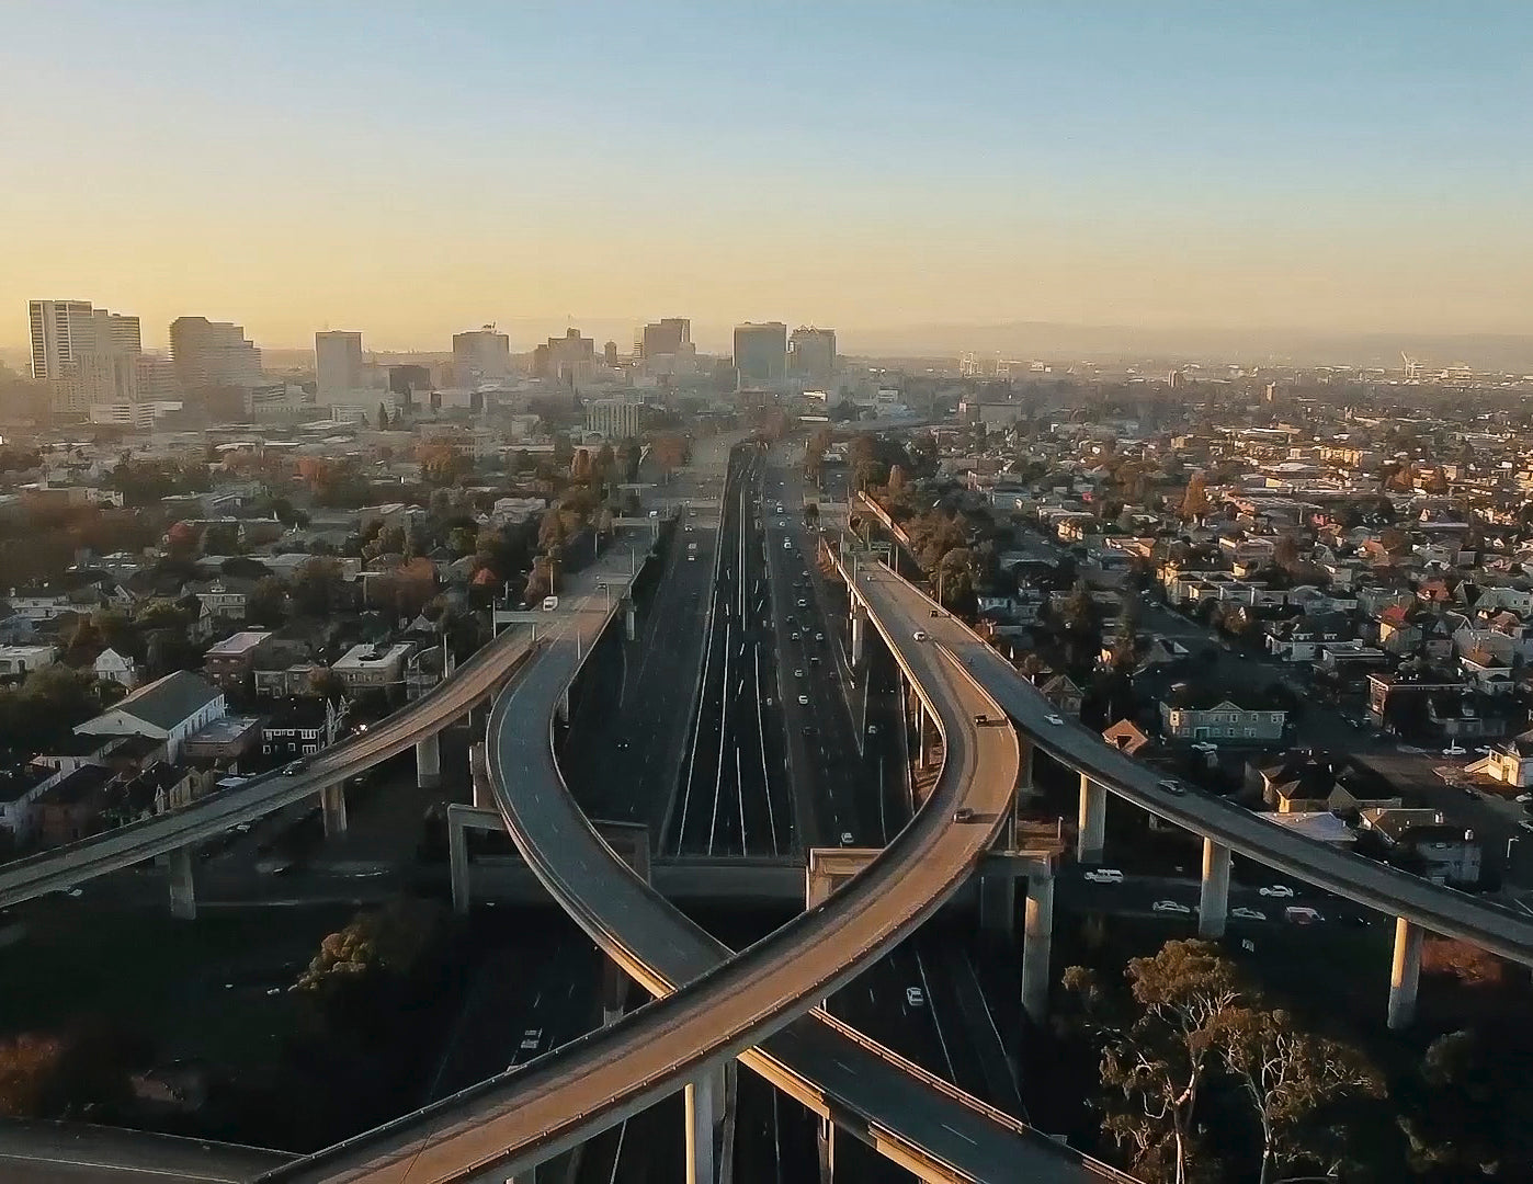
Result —
[{"label": "elevated curved ramp sweeping off the left edge past houses", "polygon": [[271,810],[345,781],[435,735],[474,705],[494,695],[532,651],[533,642],[526,631],[503,633],[414,703],[400,708],[365,734],[314,755],[296,777],[267,774],[235,789],[198,798],[179,810],[3,864],[0,908],[202,842],[239,823],[253,823]]}]

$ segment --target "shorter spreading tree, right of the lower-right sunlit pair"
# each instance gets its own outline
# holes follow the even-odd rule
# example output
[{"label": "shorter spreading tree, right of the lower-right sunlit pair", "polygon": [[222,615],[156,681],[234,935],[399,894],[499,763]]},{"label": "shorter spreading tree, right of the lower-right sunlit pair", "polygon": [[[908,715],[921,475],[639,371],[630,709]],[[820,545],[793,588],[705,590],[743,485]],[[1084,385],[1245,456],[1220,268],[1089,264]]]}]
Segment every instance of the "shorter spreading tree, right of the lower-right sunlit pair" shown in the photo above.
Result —
[{"label": "shorter spreading tree, right of the lower-right sunlit pair", "polygon": [[1348,1095],[1383,1094],[1381,1078],[1357,1049],[1300,1031],[1286,1011],[1226,1008],[1214,1043],[1262,1129],[1260,1184],[1271,1184],[1279,1167],[1315,1159],[1298,1138],[1317,1112]]}]

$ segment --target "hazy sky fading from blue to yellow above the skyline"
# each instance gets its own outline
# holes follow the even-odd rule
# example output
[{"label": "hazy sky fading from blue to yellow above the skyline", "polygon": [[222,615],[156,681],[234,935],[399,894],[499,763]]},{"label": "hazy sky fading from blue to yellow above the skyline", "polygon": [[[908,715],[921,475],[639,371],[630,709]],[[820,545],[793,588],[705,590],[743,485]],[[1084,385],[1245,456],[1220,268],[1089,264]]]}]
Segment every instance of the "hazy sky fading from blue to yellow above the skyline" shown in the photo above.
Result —
[{"label": "hazy sky fading from blue to yellow above the skyline", "polygon": [[0,343],[29,297],[1528,332],[1530,46],[1530,0],[5,5]]}]

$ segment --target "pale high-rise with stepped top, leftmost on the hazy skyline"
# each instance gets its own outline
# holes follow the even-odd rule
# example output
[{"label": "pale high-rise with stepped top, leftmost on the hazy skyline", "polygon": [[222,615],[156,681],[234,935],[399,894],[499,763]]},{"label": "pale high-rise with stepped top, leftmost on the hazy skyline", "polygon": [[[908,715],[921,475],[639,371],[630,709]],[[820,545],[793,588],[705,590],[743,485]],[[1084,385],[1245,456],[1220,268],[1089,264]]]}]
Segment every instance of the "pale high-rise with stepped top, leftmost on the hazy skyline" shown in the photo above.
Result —
[{"label": "pale high-rise with stepped top, leftmost on the hazy skyline", "polygon": [[49,409],[87,415],[95,403],[138,398],[138,317],[124,317],[89,300],[31,300],[32,377],[49,384]]}]

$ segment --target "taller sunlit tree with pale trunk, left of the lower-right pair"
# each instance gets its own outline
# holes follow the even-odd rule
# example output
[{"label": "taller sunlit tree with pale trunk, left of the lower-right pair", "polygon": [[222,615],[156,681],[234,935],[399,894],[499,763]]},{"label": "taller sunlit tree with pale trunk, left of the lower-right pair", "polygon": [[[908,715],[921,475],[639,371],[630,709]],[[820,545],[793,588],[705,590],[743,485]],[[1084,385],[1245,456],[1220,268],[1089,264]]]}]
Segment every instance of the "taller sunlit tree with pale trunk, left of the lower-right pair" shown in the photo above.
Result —
[{"label": "taller sunlit tree with pale trunk, left of the lower-right pair", "polygon": [[1234,963],[1200,940],[1167,942],[1125,971],[1128,993],[1110,991],[1095,971],[1070,966],[1065,989],[1076,1023],[1102,1052],[1102,1129],[1134,1149],[1133,1170],[1187,1184],[1206,1155],[1193,1118],[1217,1063],[1219,1022],[1242,996]]}]

